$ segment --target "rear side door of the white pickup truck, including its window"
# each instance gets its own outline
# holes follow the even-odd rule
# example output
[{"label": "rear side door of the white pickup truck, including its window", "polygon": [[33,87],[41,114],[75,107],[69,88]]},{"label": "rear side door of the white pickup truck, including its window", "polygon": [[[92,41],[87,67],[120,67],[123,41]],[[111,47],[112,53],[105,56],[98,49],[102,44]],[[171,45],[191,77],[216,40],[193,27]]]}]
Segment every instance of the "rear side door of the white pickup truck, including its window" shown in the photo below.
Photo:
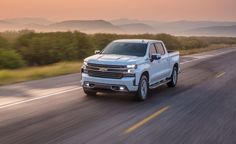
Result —
[{"label": "rear side door of the white pickup truck, including its window", "polygon": [[169,63],[169,56],[168,53],[165,51],[165,48],[162,43],[155,43],[155,47],[157,50],[157,53],[161,55],[160,63],[162,66],[162,69],[160,71],[160,77],[159,80],[162,80],[163,78],[166,78],[169,76],[170,73],[170,63]]}]

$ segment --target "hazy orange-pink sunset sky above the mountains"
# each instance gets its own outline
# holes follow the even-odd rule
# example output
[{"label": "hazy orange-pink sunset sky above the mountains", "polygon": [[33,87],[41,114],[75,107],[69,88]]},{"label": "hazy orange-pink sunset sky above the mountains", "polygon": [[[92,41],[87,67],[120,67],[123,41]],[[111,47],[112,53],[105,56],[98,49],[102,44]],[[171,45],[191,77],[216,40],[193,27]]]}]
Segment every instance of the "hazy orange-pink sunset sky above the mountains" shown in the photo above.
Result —
[{"label": "hazy orange-pink sunset sky above the mountains", "polygon": [[0,0],[0,19],[236,21],[236,0]]}]

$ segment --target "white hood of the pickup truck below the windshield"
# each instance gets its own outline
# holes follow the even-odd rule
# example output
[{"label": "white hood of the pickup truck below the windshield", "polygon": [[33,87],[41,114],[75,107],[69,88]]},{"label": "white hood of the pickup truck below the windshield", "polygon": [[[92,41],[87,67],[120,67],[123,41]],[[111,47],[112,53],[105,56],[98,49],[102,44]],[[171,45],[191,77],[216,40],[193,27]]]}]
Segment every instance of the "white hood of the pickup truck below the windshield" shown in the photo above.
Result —
[{"label": "white hood of the pickup truck below the windshield", "polygon": [[88,63],[108,64],[108,65],[129,65],[137,64],[142,57],[125,55],[97,54],[85,59]]}]

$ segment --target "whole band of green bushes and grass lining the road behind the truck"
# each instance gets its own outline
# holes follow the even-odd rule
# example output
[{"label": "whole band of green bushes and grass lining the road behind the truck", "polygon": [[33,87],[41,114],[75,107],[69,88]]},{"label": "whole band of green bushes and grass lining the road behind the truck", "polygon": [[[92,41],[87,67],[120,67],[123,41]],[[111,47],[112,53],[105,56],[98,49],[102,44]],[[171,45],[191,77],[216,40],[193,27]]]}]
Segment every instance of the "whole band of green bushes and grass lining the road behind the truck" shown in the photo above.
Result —
[{"label": "whole band of green bushes and grass lining the road behind the truck", "polygon": [[168,34],[0,33],[0,85],[79,72],[81,61],[115,39],[158,39],[170,50],[193,54],[236,44],[231,37],[183,37]]}]

